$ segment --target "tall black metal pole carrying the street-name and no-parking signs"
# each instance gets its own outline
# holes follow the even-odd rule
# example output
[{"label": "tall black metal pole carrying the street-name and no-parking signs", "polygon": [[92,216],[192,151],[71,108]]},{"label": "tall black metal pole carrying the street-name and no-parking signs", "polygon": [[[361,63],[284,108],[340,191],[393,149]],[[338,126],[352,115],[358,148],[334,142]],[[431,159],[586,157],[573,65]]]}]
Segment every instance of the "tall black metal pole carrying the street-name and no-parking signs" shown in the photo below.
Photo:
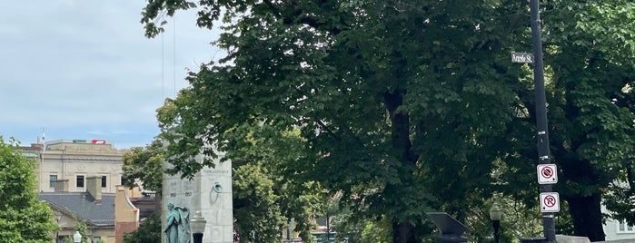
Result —
[{"label": "tall black metal pole carrying the street-name and no-parking signs", "polygon": [[[550,163],[549,130],[547,126],[547,98],[542,64],[541,15],[539,0],[530,0],[531,43],[533,45],[533,83],[536,95],[536,125],[538,127],[538,156],[541,164]],[[541,185],[541,192],[551,192],[551,184]],[[542,228],[547,242],[556,242],[553,213],[542,213]]]}]

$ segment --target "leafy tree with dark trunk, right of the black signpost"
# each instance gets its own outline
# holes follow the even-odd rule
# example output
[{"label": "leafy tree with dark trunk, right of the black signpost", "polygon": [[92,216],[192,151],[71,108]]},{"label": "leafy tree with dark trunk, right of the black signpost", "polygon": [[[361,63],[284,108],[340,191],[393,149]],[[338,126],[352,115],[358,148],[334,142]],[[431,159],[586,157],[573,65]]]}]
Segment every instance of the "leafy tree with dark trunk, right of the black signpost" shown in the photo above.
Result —
[{"label": "leafy tree with dark trunk, right of the black signpost", "polygon": [[635,5],[553,1],[546,7],[557,10],[548,12],[545,30],[552,153],[564,180],[556,190],[569,204],[575,233],[599,241],[602,196],[618,214],[632,211],[610,206],[616,194],[633,195]]}]

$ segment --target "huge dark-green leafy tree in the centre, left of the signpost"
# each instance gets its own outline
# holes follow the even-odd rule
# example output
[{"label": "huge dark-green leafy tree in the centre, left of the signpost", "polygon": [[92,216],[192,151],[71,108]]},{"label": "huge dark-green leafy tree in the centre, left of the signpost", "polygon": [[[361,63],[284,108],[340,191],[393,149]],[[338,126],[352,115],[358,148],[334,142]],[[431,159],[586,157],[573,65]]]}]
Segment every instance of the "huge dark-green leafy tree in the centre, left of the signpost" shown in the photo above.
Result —
[{"label": "huge dark-green leafy tree in the centre, left of the signpost", "polygon": [[[514,75],[496,54],[514,25],[499,12],[522,13],[459,2],[201,2],[198,24],[223,18],[216,44],[229,55],[192,73],[159,114],[166,158],[193,173],[211,165],[192,160],[208,144],[232,158],[243,127],[299,128],[302,156],[286,158],[289,175],[342,193],[352,215],[390,222],[394,242],[420,241],[432,208],[465,218],[463,195],[491,192],[497,128],[515,114]],[[147,33],[157,34],[162,11],[190,7],[149,2]]]}]

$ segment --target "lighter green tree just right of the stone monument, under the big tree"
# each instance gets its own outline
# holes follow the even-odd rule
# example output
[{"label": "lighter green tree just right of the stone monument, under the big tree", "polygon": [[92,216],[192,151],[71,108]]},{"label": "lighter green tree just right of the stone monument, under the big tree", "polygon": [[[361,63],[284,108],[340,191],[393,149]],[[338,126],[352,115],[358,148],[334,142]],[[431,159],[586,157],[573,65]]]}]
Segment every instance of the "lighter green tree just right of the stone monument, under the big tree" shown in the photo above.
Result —
[{"label": "lighter green tree just right of the stone monument, under the big tree", "polygon": [[[234,230],[241,242],[279,241],[293,219],[293,230],[312,238],[312,219],[321,213],[323,188],[285,171],[293,170],[300,156],[298,131],[279,132],[267,125],[236,128],[245,132],[233,158]],[[286,153],[273,151],[286,148]]]}]

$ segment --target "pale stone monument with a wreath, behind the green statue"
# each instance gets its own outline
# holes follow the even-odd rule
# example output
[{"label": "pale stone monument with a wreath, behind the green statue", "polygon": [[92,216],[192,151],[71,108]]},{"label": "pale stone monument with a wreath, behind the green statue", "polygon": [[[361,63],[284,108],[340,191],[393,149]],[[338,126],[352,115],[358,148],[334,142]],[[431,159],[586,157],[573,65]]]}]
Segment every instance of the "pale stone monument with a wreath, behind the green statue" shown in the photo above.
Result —
[{"label": "pale stone monument with a wreath, behind the green statue", "polygon": [[[197,160],[202,158],[199,156]],[[214,163],[215,168],[204,167],[193,180],[181,179],[180,174],[164,174],[162,230],[167,229],[166,219],[171,212],[168,205],[172,204],[190,212],[201,211],[207,221],[203,243],[233,243],[232,162]],[[164,162],[164,168],[171,167],[172,164]],[[167,234],[162,235],[162,242],[173,243],[166,239]]]}]

